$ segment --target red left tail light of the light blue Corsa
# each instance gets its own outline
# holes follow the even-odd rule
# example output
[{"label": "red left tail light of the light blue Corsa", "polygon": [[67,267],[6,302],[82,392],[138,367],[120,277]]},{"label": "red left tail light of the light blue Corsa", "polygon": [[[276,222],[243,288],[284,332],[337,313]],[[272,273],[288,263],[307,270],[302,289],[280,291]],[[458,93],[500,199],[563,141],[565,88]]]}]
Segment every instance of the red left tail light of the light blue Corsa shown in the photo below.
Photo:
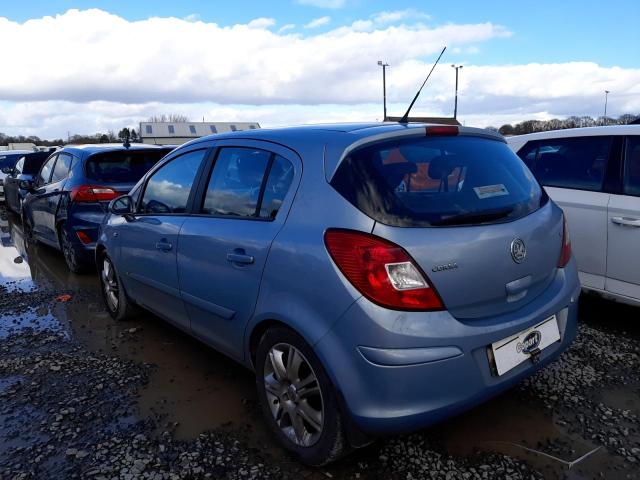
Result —
[{"label": "red left tail light of the light blue Corsa", "polygon": [[443,310],[438,292],[404,249],[367,233],[327,230],[324,242],[362,295],[394,310]]}]

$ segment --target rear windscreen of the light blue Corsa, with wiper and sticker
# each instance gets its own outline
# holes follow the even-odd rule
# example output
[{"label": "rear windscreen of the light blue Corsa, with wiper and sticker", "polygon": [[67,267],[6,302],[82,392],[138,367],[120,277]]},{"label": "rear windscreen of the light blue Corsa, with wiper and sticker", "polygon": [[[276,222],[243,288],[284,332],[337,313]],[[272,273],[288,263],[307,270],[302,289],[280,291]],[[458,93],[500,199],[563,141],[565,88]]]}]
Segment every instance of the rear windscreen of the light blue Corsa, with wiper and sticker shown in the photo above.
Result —
[{"label": "rear windscreen of the light blue Corsa, with wiper and sticker", "polygon": [[548,200],[505,143],[472,136],[362,147],[342,161],[331,185],[371,218],[401,227],[508,222]]}]

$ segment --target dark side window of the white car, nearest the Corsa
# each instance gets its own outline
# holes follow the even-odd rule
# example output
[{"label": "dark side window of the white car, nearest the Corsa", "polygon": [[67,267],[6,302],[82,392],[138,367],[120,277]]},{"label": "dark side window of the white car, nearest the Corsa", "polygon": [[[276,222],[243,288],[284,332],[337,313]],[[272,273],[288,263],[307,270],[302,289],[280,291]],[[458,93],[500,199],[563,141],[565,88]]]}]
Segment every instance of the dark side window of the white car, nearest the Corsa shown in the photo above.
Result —
[{"label": "dark side window of the white car, nearest the Corsa", "polygon": [[533,174],[548,187],[602,190],[611,137],[541,140]]}]

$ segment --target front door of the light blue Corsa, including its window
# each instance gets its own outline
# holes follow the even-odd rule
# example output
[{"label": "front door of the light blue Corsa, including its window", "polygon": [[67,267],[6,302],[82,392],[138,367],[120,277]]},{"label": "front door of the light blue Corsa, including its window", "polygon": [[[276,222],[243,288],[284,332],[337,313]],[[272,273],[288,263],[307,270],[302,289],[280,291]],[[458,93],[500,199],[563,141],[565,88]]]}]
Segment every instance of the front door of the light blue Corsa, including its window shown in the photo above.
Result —
[{"label": "front door of the light blue Corsa, including its window", "polygon": [[189,328],[189,318],[178,285],[178,234],[206,152],[187,152],[153,172],[136,214],[118,229],[117,264],[127,293],[183,329]]}]

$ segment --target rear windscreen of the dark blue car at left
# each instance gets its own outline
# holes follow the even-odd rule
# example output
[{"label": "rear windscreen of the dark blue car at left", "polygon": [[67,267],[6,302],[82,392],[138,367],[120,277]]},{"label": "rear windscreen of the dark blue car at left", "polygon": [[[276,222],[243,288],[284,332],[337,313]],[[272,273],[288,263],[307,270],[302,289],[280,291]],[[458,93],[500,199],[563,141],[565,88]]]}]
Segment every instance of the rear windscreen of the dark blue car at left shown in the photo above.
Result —
[{"label": "rear windscreen of the dark blue car at left", "polygon": [[105,183],[136,183],[170,150],[116,151],[89,157],[86,175]]}]

